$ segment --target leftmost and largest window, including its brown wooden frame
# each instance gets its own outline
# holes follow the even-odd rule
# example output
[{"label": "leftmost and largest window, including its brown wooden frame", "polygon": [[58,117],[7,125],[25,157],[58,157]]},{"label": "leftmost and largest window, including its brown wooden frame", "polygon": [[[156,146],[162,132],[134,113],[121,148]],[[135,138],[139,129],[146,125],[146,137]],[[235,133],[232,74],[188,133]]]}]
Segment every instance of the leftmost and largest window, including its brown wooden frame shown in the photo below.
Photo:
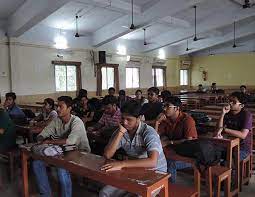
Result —
[{"label": "leftmost and largest window, including its brown wooden frame", "polygon": [[80,63],[53,61],[55,65],[55,87],[56,91],[77,91],[80,89]]}]

